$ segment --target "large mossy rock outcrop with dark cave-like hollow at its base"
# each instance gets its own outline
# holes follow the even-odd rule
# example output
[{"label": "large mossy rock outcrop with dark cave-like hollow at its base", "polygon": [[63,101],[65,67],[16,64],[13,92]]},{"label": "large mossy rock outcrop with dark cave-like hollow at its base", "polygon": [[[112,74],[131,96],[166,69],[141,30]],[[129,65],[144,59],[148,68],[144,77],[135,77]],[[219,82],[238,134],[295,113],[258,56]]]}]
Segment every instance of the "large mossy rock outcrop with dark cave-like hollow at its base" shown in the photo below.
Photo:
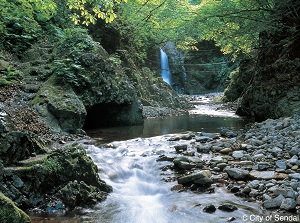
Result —
[{"label": "large mossy rock outcrop with dark cave-like hollow at its base", "polygon": [[54,132],[76,133],[83,127],[142,123],[141,102],[122,67],[97,43],[85,51],[75,45],[76,58],[71,49],[60,52],[68,41],[56,49],[52,76],[32,101],[47,125]]}]

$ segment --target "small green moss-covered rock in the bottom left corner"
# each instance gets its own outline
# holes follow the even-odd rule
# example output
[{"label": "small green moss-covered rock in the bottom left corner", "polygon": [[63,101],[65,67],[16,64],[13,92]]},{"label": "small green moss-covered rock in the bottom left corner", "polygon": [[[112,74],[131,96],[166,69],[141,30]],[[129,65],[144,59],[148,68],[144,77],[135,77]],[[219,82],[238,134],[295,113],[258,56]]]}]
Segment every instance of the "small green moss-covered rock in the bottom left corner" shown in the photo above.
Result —
[{"label": "small green moss-covered rock in the bottom left corner", "polygon": [[29,216],[0,192],[0,222],[30,223]]}]

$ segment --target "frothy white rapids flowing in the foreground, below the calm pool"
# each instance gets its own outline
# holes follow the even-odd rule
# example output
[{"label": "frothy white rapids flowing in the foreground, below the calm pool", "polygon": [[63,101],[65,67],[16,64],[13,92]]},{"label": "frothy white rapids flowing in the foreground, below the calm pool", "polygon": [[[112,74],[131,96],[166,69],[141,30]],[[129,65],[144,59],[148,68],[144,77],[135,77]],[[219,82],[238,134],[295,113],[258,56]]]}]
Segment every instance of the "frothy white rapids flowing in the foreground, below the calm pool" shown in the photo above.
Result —
[{"label": "frothy white rapids flowing in the foreground, below the calm pool", "polygon": [[[99,223],[208,223],[245,222],[244,215],[262,212],[256,203],[243,202],[241,198],[216,188],[212,194],[171,191],[177,181],[165,182],[162,178],[174,174],[160,170],[171,162],[157,162],[161,154],[172,154],[175,142],[170,136],[138,138],[113,142],[110,146],[87,146],[88,155],[99,168],[100,177],[113,187],[107,200],[92,209],[85,209],[82,222]],[[111,148],[113,147],[113,148]],[[228,213],[217,209],[213,214],[203,212],[209,204],[216,207],[222,203],[237,206]]]}]

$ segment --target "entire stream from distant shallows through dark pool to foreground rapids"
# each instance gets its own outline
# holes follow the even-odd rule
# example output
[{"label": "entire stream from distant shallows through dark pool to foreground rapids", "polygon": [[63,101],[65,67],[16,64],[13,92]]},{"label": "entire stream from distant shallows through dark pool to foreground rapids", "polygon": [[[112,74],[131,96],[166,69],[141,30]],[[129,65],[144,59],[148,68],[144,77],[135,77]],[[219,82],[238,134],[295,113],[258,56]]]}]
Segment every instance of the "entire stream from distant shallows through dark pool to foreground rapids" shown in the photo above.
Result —
[{"label": "entire stream from distant shallows through dark pool to foreground rapids", "polygon": [[[247,123],[232,112],[216,111],[203,97],[186,116],[148,119],[143,126],[93,130],[89,135],[101,138],[96,146],[84,144],[87,153],[99,168],[101,179],[113,187],[107,200],[98,205],[79,209],[73,217],[56,216],[55,223],[224,223],[247,222],[244,218],[260,216],[263,210],[255,202],[228,193],[225,187],[215,187],[213,193],[172,190],[177,185],[176,173],[163,170],[171,162],[157,162],[160,155],[174,156],[171,137],[186,131],[220,132],[222,127],[241,129]],[[201,156],[202,159],[209,159]],[[203,211],[230,203],[234,212]],[[34,221],[35,222],[35,221]],[[36,221],[47,222],[47,221]],[[251,221],[249,221],[251,222]]]}]

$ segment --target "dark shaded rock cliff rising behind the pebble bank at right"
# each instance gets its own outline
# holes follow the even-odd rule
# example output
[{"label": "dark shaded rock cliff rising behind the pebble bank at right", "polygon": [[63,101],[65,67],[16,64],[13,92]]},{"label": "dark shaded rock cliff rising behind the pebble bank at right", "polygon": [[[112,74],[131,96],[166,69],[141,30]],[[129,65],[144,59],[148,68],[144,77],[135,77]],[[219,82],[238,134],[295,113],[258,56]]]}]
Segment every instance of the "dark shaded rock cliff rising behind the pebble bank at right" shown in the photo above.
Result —
[{"label": "dark shaded rock cliff rising behind the pebble bank at right", "polygon": [[[278,12],[286,10],[276,9]],[[297,10],[295,13],[299,13]],[[239,115],[265,120],[300,112],[300,40],[293,38],[299,35],[295,26],[298,22],[286,13],[281,15],[280,21],[281,28],[261,33],[261,50],[255,58],[255,67],[249,68],[249,63],[241,65],[240,78],[248,76],[251,81],[247,85],[240,81],[236,86],[237,93],[243,92],[237,109]],[[243,91],[240,86],[245,87]]]}]

